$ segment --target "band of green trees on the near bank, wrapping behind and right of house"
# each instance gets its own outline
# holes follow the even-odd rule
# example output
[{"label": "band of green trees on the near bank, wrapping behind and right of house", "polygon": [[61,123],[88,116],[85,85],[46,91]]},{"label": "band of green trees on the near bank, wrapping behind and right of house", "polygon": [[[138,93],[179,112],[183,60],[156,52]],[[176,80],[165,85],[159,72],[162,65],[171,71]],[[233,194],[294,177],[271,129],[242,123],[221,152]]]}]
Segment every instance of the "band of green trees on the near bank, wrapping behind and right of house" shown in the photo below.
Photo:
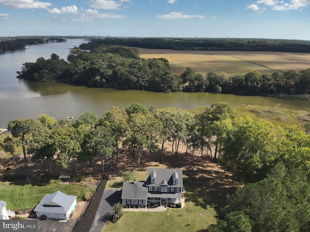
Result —
[{"label": "band of green trees on the near bank, wrapping behind and right of house", "polygon": [[8,129],[13,137],[4,139],[3,149],[14,156],[21,145],[25,168],[27,152],[34,162],[45,160],[51,172],[66,169],[71,159],[91,164],[101,157],[104,167],[114,157],[117,164],[123,154],[132,155],[139,166],[142,150],[157,151],[158,160],[165,160],[167,141],[177,159],[182,143],[185,156],[194,151],[211,156],[245,183],[229,195],[209,232],[310,231],[310,131],[298,126],[236,117],[231,105],[218,102],[195,115],[133,103],[124,110],[112,107],[102,117],[85,112],[76,121],[47,115],[15,119]]}]

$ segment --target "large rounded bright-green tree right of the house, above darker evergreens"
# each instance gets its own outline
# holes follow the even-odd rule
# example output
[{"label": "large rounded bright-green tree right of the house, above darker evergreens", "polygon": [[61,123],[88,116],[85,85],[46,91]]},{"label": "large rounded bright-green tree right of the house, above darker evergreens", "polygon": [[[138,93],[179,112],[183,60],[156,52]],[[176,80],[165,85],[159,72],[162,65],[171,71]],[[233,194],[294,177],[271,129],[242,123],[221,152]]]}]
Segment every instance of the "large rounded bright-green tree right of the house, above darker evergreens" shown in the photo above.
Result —
[{"label": "large rounded bright-green tree right of the house, above darker evergreens", "polygon": [[223,142],[223,159],[241,167],[242,184],[246,176],[260,178],[279,156],[274,125],[247,117],[235,119],[232,129]]}]

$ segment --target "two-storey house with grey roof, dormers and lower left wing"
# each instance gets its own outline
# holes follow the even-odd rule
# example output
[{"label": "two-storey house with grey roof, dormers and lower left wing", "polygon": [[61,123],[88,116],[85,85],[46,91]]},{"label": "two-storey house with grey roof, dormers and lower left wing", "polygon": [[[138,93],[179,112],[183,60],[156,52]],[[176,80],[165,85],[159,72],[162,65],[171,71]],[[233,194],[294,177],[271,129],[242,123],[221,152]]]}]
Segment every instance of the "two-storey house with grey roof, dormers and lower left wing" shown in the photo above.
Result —
[{"label": "two-storey house with grey roof, dormers and lower left wing", "polygon": [[146,207],[147,203],[167,206],[182,202],[184,192],[181,169],[148,168],[145,182],[124,182],[122,203]]}]

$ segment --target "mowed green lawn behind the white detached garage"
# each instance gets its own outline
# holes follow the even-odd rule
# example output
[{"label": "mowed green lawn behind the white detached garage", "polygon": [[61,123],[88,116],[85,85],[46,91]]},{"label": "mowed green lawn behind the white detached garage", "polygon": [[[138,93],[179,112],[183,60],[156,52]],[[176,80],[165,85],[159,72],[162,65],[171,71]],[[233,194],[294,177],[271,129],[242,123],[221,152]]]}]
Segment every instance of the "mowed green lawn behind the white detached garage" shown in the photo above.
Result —
[{"label": "mowed green lawn behind the white detached garage", "polygon": [[67,195],[77,197],[77,202],[82,198],[88,188],[79,185],[61,185],[55,181],[34,180],[25,182],[0,182],[0,200],[6,202],[7,209],[34,208],[46,194],[61,191]]}]

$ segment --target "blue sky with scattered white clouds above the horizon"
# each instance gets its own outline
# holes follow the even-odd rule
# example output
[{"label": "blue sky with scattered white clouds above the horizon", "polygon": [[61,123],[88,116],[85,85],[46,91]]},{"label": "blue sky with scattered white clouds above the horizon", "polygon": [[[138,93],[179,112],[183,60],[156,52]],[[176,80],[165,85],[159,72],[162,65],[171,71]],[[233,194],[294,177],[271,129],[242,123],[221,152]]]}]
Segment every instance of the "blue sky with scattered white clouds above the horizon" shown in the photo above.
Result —
[{"label": "blue sky with scattered white clouds above the horizon", "polygon": [[0,36],[310,40],[310,0],[0,0]]}]

